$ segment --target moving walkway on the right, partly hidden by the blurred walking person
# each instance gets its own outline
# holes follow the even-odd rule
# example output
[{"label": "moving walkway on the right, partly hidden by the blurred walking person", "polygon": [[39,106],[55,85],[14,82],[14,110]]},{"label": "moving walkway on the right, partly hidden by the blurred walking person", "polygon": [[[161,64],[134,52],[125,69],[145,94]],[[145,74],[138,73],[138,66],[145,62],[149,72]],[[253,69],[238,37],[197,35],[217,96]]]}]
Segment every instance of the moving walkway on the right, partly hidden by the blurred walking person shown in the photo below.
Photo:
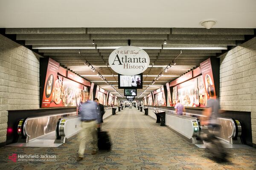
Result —
[{"label": "moving walkway on the right, partly hidden by the blurred walking person", "polygon": [[[196,113],[185,113],[184,115],[176,115],[175,111],[163,109],[163,108],[154,108],[148,107],[148,115],[151,117],[154,116],[154,111],[165,111],[166,119],[165,125],[169,127],[172,131],[182,136],[184,139],[192,142],[193,144],[198,145],[198,147],[202,147],[203,141],[199,138],[199,134],[201,132],[200,121],[204,117],[204,115],[196,114]],[[218,118],[221,124],[220,130],[218,131],[218,138],[224,141],[227,147],[241,147],[241,123],[239,120],[231,119],[231,118]],[[234,145],[240,144],[240,145]],[[244,145],[245,147],[246,145]]]}]

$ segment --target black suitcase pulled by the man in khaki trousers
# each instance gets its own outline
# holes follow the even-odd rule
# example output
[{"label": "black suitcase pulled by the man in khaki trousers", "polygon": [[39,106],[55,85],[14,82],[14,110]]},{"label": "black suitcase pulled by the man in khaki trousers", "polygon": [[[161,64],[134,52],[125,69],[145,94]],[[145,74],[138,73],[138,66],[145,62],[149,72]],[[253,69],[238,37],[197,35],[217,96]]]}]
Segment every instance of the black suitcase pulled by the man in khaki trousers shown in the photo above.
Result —
[{"label": "black suitcase pulled by the man in khaki trousers", "polygon": [[98,131],[98,148],[99,150],[111,150],[111,139],[106,131]]}]

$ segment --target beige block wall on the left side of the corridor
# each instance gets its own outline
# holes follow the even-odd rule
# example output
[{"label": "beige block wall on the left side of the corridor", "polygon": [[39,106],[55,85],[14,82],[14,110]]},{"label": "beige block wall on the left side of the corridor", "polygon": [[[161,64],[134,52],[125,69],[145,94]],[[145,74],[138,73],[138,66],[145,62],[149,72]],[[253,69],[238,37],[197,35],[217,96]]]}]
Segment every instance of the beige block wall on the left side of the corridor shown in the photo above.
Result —
[{"label": "beige block wall on the left side of the corridor", "polygon": [[0,34],[0,143],[9,110],[39,109],[39,57]]}]

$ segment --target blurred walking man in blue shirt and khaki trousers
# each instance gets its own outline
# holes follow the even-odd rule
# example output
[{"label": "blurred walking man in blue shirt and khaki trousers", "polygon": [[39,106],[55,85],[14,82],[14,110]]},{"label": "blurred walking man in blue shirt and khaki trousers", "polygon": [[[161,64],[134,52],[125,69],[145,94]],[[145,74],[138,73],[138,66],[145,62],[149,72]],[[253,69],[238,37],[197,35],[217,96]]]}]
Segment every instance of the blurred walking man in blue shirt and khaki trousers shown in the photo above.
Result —
[{"label": "blurred walking man in blue shirt and khaki trousers", "polygon": [[92,154],[98,152],[98,136],[97,136],[97,127],[100,126],[100,116],[99,109],[97,109],[97,103],[91,100],[81,103],[79,105],[78,113],[81,114],[81,127],[82,130],[79,134],[80,144],[78,150],[78,157],[76,161],[83,160],[85,143],[90,136],[93,138],[93,151]]}]

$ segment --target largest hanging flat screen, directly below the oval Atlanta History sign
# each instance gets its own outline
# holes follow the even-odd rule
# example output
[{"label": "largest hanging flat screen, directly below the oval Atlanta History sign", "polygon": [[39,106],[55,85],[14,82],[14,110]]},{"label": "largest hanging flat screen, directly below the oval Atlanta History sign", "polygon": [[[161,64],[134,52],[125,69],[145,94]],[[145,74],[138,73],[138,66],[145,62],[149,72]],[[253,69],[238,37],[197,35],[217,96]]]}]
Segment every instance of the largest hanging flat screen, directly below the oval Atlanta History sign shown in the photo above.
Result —
[{"label": "largest hanging flat screen, directly below the oval Atlanta History sign", "polygon": [[143,74],[125,76],[118,74],[118,88],[134,89],[143,87]]}]

